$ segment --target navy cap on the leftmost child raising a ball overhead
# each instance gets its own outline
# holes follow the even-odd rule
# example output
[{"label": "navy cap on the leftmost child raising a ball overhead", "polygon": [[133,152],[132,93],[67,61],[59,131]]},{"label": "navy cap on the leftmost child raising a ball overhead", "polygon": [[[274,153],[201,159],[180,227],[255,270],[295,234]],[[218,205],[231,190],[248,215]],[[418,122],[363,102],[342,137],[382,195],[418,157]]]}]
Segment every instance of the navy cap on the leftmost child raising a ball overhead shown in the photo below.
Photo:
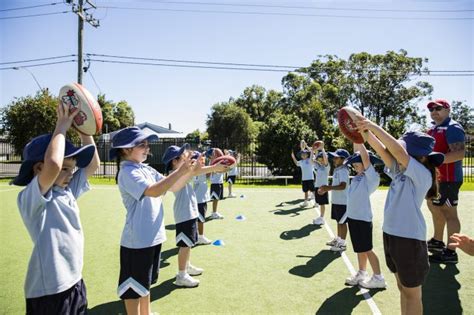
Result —
[{"label": "navy cap on the leftmost child raising a ball overhead", "polygon": [[[12,184],[18,186],[26,186],[33,179],[33,166],[37,162],[44,161],[44,155],[48,145],[51,142],[52,135],[46,134],[33,138],[23,149],[23,162],[21,163],[18,176],[12,180]],[[66,139],[64,150],[64,158],[76,158],[76,166],[79,168],[86,167],[92,160],[95,153],[95,146],[88,144],[83,147],[74,146]]]}]

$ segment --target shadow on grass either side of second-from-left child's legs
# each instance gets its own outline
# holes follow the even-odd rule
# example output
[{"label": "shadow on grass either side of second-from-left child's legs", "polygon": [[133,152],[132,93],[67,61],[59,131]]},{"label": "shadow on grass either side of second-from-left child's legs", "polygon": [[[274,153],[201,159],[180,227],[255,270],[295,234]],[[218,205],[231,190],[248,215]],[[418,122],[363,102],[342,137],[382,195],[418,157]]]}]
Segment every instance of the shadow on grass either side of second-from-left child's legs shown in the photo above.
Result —
[{"label": "shadow on grass either side of second-from-left child's legs", "polygon": [[[174,280],[175,278],[168,279],[156,287],[152,287],[150,290],[150,301],[156,301],[159,300],[171,292],[173,292],[176,289],[180,289],[177,286],[174,285]],[[126,314],[125,312],[125,306],[123,304],[122,300],[117,300],[113,302],[108,302],[104,304],[100,304],[97,306],[94,306],[91,309],[87,310],[87,314],[89,315],[117,315],[117,314]]]}]

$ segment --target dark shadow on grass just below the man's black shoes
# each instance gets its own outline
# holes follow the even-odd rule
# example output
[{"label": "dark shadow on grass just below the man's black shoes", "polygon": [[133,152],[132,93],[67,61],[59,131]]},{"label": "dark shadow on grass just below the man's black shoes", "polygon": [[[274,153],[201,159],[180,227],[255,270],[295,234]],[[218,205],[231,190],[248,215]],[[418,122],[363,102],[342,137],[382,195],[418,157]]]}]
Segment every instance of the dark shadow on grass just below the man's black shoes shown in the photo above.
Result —
[{"label": "dark shadow on grass just below the man's black shoes", "polygon": [[442,267],[444,265],[430,264],[430,271],[422,287],[423,313],[462,314],[458,293],[461,285],[455,277],[459,274],[459,269],[456,265]]}]

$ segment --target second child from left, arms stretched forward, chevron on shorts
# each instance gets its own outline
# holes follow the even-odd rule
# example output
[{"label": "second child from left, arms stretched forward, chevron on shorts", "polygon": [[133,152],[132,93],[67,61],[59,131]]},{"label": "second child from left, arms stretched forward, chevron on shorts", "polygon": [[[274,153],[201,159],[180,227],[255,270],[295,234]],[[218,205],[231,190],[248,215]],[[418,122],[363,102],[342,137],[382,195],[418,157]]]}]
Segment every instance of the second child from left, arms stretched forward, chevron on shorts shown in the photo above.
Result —
[{"label": "second child from left, arms stretched forward, chevron on shorts", "polygon": [[[194,167],[190,158],[165,177],[143,164],[156,140],[138,127],[120,130],[112,139],[110,159],[117,158],[117,183],[127,210],[120,241],[120,276],[117,293],[127,314],[150,314],[150,286],[158,280],[161,244],[166,240],[161,196]],[[177,189],[177,188],[175,188]]]}]

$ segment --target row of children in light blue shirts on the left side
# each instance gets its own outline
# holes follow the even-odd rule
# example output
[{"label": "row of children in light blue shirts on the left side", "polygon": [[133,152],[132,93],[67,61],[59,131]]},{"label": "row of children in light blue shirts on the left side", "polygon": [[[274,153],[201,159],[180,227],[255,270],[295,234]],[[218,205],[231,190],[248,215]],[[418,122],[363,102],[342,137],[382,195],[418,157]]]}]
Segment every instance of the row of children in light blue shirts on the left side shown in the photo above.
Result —
[{"label": "row of children in light blue shirts on the left side", "polygon": [[[18,207],[34,243],[25,281],[27,314],[87,312],[82,279],[84,236],[76,200],[89,190],[87,179],[100,159],[91,136],[78,132],[82,147],[66,139],[78,112],[58,104],[53,134],[38,136],[25,146],[20,172],[12,181],[26,186],[18,195]],[[126,208],[117,293],[127,314],[150,314],[150,286],[158,280],[166,240],[163,195],[167,191],[175,195],[177,286],[195,287],[199,280],[193,276],[203,273],[190,263],[190,253],[193,246],[210,243],[203,226],[209,200],[207,174],[211,174],[215,202],[211,217],[222,218],[217,202],[229,166],[205,162],[206,153],[212,160],[222,155],[220,149],[200,153],[190,151],[188,144],[170,146],[163,155],[169,173],[165,176],[143,163],[149,155],[149,141],[156,139],[137,127],[124,128],[113,137],[109,152],[111,159],[117,159],[116,180]],[[235,173],[229,178],[235,181]]]}]

